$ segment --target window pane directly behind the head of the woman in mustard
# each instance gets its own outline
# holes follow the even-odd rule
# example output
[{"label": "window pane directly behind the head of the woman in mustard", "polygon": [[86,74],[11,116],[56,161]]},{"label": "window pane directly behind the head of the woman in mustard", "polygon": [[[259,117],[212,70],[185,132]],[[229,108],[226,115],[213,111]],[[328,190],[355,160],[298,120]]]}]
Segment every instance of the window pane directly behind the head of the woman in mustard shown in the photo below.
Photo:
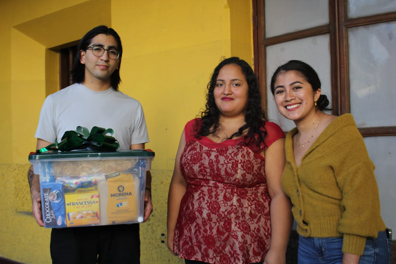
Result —
[{"label": "window pane directly behind the head of the woman in mustard", "polygon": [[[322,93],[331,103],[329,34],[293,40],[267,47],[267,118],[274,120],[284,131],[295,127],[294,122],[279,114],[270,91],[271,77],[278,66],[296,59],[316,70],[322,82]],[[331,107],[331,105],[329,105]]]}]

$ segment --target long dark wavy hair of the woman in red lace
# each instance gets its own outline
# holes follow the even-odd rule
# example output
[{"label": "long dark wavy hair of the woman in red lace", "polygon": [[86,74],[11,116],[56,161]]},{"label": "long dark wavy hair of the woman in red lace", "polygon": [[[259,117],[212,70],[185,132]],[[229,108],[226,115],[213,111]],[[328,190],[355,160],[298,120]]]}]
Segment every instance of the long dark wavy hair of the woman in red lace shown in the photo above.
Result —
[{"label": "long dark wavy hair of the woman in red lace", "polygon": [[245,112],[246,124],[240,127],[238,131],[232,134],[228,139],[242,136],[244,130],[247,129],[247,134],[244,137],[242,144],[252,146],[253,150],[259,151],[261,144],[263,143],[265,145],[264,138],[267,135],[267,131],[265,129],[263,131],[262,129],[265,125],[265,112],[263,108],[261,108],[261,93],[257,84],[256,75],[252,68],[246,63],[246,61],[239,59],[238,57],[224,59],[213,71],[208,83],[208,92],[206,93],[206,110],[201,112],[202,122],[199,125],[196,123],[196,127],[200,127],[199,130],[197,129],[196,137],[200,139],[208,136],[209,134],[216,135],[219,131],[220,111],[216,106],[213,91],[221,68],[230,64],[237,65],[241,68],[249,90],[248,103]]}]

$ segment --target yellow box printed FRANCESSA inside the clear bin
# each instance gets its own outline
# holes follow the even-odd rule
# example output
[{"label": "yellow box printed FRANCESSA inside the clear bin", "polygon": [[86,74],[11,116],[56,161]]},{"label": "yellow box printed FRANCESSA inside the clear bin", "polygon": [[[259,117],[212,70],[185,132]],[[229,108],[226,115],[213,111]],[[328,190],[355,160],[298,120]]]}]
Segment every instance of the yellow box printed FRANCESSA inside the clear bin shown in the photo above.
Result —
[{"label": "yellow box printed FRANCESSA inside the clear bin", "polygon": [[97,191],[65,193],[66,225],[99,224],[99,193]]}]

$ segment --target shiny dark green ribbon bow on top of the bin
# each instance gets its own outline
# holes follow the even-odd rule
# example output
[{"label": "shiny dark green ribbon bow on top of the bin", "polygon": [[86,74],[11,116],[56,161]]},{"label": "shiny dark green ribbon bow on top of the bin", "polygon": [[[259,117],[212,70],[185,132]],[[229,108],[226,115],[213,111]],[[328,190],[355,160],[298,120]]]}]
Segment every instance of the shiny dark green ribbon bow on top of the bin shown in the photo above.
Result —
[{"label": "shiny dark green ribbon bow on top of the bin", "polygon": [[[66,131],[63,134],[62,141],[50,144],[45,148],[36,150],[36,153],[46,152],[50,150],[70,151],[85,148],[93,148],[98,150],[113,151],[120,147],[120,143],[112,137],[113,129],[104,129],[103,127],[92,127],[91,132],[86,127],[77,127],[76,131]],[[110,136],[106,134],[110,133]],[[56,146],[58,148],[56,148]]]}]

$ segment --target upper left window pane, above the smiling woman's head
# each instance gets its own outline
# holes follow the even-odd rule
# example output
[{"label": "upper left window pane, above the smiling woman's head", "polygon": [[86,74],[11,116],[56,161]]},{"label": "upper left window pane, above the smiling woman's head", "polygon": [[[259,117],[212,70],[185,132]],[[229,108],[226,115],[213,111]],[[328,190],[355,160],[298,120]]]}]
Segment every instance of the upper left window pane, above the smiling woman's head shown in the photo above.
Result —
[{"label": "upper left window pane, above the smiling woman's head", "polygon": [[328,0],[265,1],[266,38],[328,23]]}]

